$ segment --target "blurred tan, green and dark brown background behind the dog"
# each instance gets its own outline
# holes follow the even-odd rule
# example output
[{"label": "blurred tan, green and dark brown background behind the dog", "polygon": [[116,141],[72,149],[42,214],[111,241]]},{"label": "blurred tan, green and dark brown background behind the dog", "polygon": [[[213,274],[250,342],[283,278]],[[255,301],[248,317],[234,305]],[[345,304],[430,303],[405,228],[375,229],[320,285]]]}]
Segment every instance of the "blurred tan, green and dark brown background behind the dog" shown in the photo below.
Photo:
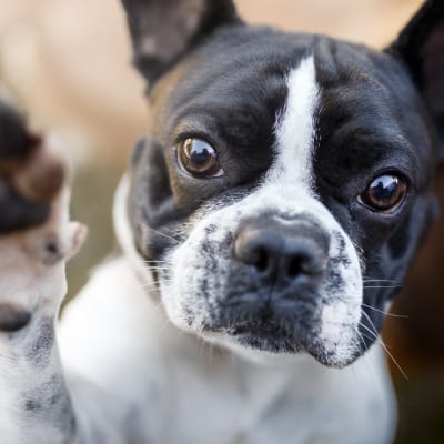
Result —
[{"label": "blurred tan, green and dark brown background behind the dog", "polygon": [[[250,22],[322,32],[383,48],[421,0],[238,0]],[[115,248],[113,190],[148,110],[130,65],[118,0],[0,0],[0,88],[32,127],[51,131],[72,163],[73,216],[90,226],[69,266],[70,296]],[[444,206],[444,174],[436,190]],[[438,221],[389,319],[384,339],[400,404],[397,443],[444,443],[444,220]],[[371,418],[369,418],[371,421]],[[377,424],[375,424],[377,427]]]}]

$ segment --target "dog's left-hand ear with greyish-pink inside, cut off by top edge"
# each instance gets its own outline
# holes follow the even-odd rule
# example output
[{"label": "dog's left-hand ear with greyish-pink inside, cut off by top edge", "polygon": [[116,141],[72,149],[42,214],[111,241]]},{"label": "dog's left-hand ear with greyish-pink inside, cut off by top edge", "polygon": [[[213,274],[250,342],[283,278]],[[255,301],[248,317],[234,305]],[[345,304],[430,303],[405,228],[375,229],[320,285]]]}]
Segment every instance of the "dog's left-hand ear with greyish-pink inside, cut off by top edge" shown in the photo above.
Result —
[{"label": "dog's left-hand ear with greyish-pink inside, cut off by top edge", "polygon": [[232,0],[122,0],[134,64],[151,87],[214,29],[240,21]]}]

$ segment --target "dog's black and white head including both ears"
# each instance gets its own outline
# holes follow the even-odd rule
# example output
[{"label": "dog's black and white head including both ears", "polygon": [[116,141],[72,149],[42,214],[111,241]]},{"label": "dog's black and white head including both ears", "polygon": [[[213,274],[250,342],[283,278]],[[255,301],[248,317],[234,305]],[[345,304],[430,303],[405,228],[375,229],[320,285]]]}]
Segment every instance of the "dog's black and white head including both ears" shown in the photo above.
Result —
[{"label": "dog's black and white head including both ears", "polygon": [[151,112],[128,211],[172,323],[331,366],[375,341],[434,213],[438,3],[376,52],[124,0]]}]

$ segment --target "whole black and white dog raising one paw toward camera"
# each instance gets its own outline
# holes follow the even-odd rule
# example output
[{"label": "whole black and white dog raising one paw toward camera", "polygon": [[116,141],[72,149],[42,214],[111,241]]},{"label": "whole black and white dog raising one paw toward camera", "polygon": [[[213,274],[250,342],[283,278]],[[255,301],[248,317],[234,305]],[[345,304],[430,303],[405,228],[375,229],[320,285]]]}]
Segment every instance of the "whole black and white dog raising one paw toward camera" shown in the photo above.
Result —
[{"label": "whole black and white dog raising one paw toward camera", "polygon": [[151,112],[123,254],[54,341],[81,230],[60,199],[0,224],[1,442],[390,443],[375,343],[436,212],[444,2],[383,52],[249,27],[229,0],[123,3]]}]

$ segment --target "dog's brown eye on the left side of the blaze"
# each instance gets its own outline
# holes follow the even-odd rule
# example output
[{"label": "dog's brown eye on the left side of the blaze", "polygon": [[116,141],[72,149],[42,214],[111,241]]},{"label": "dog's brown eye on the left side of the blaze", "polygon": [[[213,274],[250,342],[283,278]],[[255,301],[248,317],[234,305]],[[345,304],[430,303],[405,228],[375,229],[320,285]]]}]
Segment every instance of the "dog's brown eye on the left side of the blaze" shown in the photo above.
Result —
[{"label": "dog's brown eye on the left side of the blaze", "polygon": [[214,148],[201,139],[186,139],[178,145],[180,165],[196,178],[223,175]]}]

